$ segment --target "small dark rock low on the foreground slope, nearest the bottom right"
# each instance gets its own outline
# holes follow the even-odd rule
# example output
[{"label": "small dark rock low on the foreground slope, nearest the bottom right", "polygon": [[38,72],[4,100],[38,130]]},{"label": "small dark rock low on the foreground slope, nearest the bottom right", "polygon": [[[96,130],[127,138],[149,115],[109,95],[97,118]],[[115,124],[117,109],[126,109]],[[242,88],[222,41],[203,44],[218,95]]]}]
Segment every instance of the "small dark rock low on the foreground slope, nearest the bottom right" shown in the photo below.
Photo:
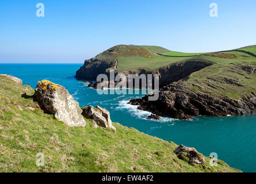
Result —
[{"label": "small dark rock low on the foreground slope, nearest the bottom right", "polygon": [[191,147],[185,147],[184,145],[179,145],[179,147],[176,148],[175,151],[173,151],[179,158],[180,156],[185,152],[187,153],[189,163],[196,163],[196,164],[203,164],[205,163],[205,158],[201,154],[199,154],[198,151],[195,150],[195,148]]}]

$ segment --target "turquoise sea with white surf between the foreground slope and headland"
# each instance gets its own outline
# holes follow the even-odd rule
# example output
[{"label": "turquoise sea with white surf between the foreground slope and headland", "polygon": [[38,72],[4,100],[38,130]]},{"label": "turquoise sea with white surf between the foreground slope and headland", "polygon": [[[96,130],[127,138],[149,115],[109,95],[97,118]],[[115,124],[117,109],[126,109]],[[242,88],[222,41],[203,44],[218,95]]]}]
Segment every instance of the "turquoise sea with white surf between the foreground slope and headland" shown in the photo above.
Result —
[{"label": "turquoise sea with white surf between the foreground slope and headland", "polygon": [[[218,159],[244,172],[256,172],[256,114],[230,117],[196,117],[193,121],[149,120],[149,112],[128,105],[139,95],[99,95],[88,83],[74,76],[82,64],[0,64],[0,74],[23,79],[24,85],[35,88],[47,79],[66,87],[80,106],[99,105],[110,111],[112,121],[176,144],[195,147],[205,156],[216,152]],[[141,91],[140,91],[141,92]],[[118,132],[117,132],[118,133]]]}]

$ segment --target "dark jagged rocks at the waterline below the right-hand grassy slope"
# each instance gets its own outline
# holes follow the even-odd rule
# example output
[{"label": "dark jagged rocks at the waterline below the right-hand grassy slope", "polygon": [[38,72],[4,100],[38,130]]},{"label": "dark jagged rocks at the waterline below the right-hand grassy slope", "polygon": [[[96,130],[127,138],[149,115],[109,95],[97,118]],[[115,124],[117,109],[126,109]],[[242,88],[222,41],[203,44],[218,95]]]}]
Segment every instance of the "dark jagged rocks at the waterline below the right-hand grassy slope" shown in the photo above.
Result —
[{"label": "dark jagged rocks at the waterline below the right-hand grassy slope", "polygon": [[138,109],[147,110],[159,116],[190,119],[192,116],[227,116],[256,113],[256,96],[240,100],[228,97],[213,97],[201,91],[194,92],[184,86],[182,81],[174,82],[159,91],[157,101],[149,101],[147,94],[142,98],[131,99],[129,104],[139,105]]}]

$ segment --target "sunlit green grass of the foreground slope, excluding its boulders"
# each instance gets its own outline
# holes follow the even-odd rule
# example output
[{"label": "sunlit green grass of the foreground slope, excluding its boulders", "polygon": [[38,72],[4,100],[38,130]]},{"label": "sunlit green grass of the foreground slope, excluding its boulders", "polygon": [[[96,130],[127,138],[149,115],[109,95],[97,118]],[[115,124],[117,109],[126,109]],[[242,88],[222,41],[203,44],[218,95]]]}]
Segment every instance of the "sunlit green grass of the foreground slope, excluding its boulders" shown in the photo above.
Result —
[{"label": "sunlit green grass of the foreground slope, excluding its boulders", "polygon": [[[35,107],[29,86],[0,77],[1,172],[237,172],[219,160],[218,167],[188,164],[173,153],[177,145],[114,123],[117,132],[68,127]],[[23,110],[19,110],[20,106]],[[37,167],[42,152],[45,166]],[[158,152],[158,154],[155,154]]]}]

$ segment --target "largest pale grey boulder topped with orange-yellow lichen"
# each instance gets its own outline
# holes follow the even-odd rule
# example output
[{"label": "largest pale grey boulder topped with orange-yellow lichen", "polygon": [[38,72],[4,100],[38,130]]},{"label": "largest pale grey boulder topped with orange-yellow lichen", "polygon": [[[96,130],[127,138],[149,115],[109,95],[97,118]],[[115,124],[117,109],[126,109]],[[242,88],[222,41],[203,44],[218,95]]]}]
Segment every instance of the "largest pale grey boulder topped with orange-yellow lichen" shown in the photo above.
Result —
[{"label": "largest pale grey boulder topped with orange-yellow lichen", "polygon": [[39,81],[35,89],[35,99],[46,113],[54,114],[57,120],[70,127],[85,127],[82,110],[68,90],[50,81]]}]

